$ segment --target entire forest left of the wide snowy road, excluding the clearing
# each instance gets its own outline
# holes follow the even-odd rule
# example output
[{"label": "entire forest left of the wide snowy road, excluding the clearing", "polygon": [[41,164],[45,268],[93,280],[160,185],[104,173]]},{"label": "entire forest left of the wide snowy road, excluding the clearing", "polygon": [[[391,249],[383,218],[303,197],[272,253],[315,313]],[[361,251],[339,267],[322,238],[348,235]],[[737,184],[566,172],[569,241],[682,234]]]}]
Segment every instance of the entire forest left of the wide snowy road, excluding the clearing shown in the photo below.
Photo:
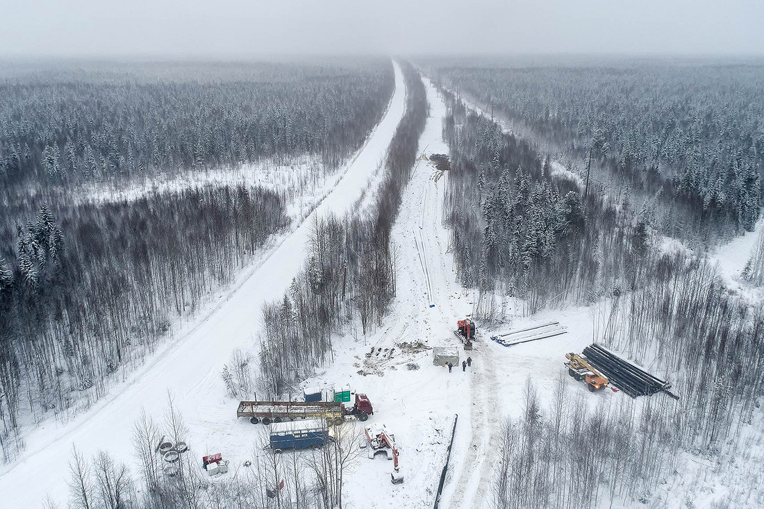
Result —
[{"label": "entire forest left of the wide snowy road, excluding the clearing", "polygon": [[[94,64],[95,65],[95,64]],[[33,72],[34,71],[34,72]],[[379,121],[383,60],[11,68],[0,85],[0,444],[124,379],[289,225],[286,190],[230,181],[139,196],[146,173],[316,158],[338,169]],[[106,197],[105,197],[106,196]]]}]

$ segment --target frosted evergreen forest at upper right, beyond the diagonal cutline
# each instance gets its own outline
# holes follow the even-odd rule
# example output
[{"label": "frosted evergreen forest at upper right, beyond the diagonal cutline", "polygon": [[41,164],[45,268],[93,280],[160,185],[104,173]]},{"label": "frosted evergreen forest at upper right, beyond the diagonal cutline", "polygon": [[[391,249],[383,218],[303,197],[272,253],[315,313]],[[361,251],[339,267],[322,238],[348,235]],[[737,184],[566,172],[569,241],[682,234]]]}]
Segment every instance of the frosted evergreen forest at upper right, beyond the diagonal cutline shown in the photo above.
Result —
[{"label": "frosted evergreen forest at upper right, beyond the diagonal cutline", "polygon": [[[764,66],[444,63],[433,72],[562,151],[591,154],[619,186],[659,193],[673,210],[653,226],[667,235],[709,242],[759,218]],[[676,214],[693,218],[692,228],[675,225]]]}]

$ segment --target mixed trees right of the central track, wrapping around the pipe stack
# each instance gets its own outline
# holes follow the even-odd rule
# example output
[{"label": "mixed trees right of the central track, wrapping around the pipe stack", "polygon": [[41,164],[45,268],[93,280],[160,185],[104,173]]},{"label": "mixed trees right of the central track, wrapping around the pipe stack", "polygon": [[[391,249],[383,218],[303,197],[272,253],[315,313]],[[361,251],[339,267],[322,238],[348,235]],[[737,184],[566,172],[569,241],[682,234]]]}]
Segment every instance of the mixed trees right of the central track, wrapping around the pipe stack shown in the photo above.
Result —
[{"label": "mixed trees right of the central track, wrapping around the pipe stack", "polygon": [[[681,394],[593,407],[580,395],[571,402],[561,378],[544,407],[526,381],[523,412],[503,435],[495,507],[649,504],[688,453],[720,470],[736,464],[722,475],[730,485],[757,478],[764,314],[756,293],[730,290],[691,251],[666,251],[604,185],[587,189],[553,170],[529,141],[448,97],[445,219],[461,281],[480,290],[475,316],[503,322],[513,297],[529,314],[591,306],[595,342],[672,374]],[[731,488],[733,500],[760,499],[745,486]]]}]

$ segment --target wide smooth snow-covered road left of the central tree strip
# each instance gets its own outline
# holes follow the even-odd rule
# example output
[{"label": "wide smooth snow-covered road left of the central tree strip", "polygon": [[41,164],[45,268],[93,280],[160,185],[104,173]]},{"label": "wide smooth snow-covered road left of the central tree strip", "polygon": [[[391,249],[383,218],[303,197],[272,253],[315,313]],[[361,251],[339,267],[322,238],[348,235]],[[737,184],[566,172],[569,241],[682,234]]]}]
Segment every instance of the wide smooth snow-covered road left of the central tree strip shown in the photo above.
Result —
[{"label": "wide smooth snow-covered road left of the central tree strip", "polygon": [[403,74],[397,64],[394,67],[395,92],[387,112],[348,163],[332,193],[261,264],[242,274],[206,316],[181,330],[177,339],[153,355],[130,381],[115,387],[72,422],[48,422],[31,433],[27,449],[0,474],[3,507],[41,507],[47,494],[65,502],[67,465],[73,446],[86,458],[104,449],[132,465],[133,423],[142,409],[161,418],[168,391],[186,420],[195,454],[201,448],[225,442],[228,433],[223,430],[231,427],[231,420],[235,421],[235,406],[225,397],[222,366],[233,349],[251,347],[261,327],[261,306],[280,298],[289,287],[306,259],[305,246],[313,218],[343,214],[363,191],[368,191],[368,182],[384,161],[406,108]]}]

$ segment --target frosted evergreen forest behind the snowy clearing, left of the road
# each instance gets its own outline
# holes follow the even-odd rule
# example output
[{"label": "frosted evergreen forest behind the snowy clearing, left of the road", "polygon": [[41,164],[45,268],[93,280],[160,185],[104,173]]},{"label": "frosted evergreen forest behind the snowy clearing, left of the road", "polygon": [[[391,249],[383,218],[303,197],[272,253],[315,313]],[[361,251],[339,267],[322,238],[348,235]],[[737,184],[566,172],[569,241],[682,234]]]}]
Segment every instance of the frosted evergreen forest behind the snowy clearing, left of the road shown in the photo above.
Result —
[{"label": "frosted evergreen forest behind the snowy clearing, left of the road", "polygon": [[113,180],[304,154],[336,167],[377,124],[394,86],[381,59],[167,65],[6,69],[0,185]]}]

